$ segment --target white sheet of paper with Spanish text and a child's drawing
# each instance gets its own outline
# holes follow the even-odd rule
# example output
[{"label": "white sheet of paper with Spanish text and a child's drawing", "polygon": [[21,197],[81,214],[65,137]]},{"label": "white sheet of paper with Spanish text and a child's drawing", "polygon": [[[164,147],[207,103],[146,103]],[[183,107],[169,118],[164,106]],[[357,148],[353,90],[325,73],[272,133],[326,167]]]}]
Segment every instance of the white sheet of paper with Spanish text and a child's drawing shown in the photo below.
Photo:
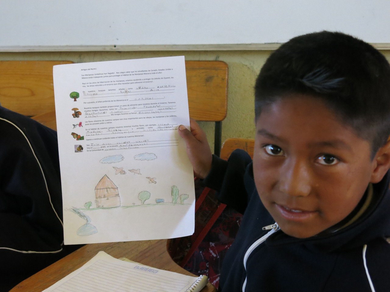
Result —
[{"label": "white sheet of paper with Spanish text and a child's drawing", "polygon": [[194,231],[184,57],[53,67],[65,244]]}]

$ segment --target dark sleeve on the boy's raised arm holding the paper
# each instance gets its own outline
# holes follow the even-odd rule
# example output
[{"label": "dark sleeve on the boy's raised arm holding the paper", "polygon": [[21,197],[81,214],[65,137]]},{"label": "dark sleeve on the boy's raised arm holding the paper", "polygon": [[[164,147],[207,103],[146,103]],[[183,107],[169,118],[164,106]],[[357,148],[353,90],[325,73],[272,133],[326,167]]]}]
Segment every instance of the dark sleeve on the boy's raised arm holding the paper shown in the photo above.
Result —
[{"label": "dark sleeve on the boy's raised arm holding the paper", "polygon": [[246,175],[252,172],[252,159],[243,150],[234,150],[228,161],[213,155],[212,167],[204,184],[217,191],[218,200],[244,213],[248,203]]}]

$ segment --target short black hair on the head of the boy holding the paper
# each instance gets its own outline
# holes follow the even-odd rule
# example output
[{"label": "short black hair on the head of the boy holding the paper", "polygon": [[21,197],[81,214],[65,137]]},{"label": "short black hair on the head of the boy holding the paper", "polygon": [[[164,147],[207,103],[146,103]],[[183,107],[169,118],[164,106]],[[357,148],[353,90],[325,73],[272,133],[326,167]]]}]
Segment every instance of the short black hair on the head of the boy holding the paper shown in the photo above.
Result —
[{"label": "short black hair on the head of the boy holding the paper", "polygon": [[274,51],[255,83],[256,119],[290,94],[320,98],[374,154],[390,135],[390,65],[366,42],[340,32],[294,37]]}]

